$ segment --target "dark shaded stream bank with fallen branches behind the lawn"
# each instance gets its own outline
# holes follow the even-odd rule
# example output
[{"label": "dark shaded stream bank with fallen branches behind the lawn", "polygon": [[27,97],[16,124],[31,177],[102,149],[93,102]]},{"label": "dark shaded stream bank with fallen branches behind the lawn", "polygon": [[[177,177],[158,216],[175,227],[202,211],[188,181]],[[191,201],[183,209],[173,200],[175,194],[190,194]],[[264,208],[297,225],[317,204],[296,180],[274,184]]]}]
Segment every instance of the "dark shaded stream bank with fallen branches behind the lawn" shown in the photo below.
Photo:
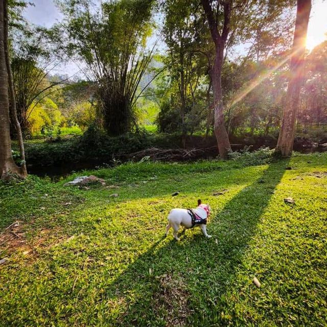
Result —
[{"label": "dark shaded stream bank with fallen branches behind the lawn", "polygon": [[[253,151],[262,147],[272,149],[277,142],[274,137],[260,135],[231,137],[230,141],[232,151],[244,149]],[[327,151],[324,139],[318,141],[296,137],[294,151],[301,153]],[[164,162],[192,162],[213,159],[217,155],[216,138],[199,135],[188,136],[185,149],[181,149],[180,135],[138,133],[108,137],[103,132],[92,129],[78,137],[54,139],[51,142],[37,139],[26,143],[29,173],[50,176],[56,180],[74,171],[113,167],[122,162],[139,161],[144,157]]]}]

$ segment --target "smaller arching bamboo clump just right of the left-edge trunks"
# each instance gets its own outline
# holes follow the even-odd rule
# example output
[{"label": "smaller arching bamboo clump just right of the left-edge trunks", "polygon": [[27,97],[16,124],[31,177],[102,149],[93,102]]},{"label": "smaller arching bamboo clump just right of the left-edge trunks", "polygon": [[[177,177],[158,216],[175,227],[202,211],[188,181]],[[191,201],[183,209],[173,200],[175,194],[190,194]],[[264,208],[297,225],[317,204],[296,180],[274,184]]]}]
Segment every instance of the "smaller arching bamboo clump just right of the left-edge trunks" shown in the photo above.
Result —
[{"label": "smaller arching bamboo clump just right of the left-edge trunks", "polygon": [[17,116],[23,134],[29,135],[32,128],[29,116],[33,109],[61,83],[49,80],[49,73],[59,58],[54,56],[49,31],[41,27],[26,24],[24,28],[13,28],[11,45]]}]

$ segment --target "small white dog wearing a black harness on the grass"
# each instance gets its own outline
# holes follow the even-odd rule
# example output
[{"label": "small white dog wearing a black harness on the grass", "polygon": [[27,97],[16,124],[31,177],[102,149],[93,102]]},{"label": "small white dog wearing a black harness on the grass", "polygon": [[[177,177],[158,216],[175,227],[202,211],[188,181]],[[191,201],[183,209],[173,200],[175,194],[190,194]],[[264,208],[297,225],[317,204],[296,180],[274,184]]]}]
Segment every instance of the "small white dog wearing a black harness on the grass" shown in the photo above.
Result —
[{"label": "small white dog wearing a black harness on the grass", "polygon": [[172,209],[168,215],[168,225],[166,226],[166,236],[168,235],[170,227],[174,229],[174,238],[179,241],[177,232],[180,225],[185,228],[193,228],[198,226],[201,228],[203,235],[207,238],[211,238],[206,232],[206,220],[210,214],[210,206],[208,204],[201,204],[201,200],[198,200],[198,206],[195,209]]}]

